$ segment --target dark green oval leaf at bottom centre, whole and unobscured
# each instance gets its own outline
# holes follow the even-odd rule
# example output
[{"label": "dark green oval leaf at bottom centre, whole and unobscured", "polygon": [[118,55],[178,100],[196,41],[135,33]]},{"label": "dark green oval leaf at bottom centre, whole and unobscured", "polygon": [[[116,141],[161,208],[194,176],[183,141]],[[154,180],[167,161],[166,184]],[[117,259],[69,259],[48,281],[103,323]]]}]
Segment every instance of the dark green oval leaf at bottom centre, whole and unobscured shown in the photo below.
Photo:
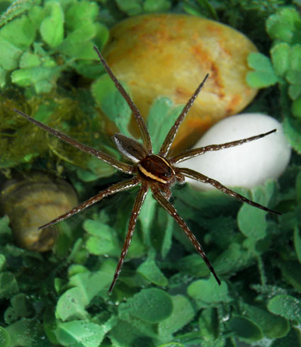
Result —
[{"label": "dark green oval leaf at bottom centre, whole and unobscured", "polygon": [[144,322],[159,323],[173,310],[171,296],[157,288],[144,289],[133,295],[123,305],[123,310]]}]

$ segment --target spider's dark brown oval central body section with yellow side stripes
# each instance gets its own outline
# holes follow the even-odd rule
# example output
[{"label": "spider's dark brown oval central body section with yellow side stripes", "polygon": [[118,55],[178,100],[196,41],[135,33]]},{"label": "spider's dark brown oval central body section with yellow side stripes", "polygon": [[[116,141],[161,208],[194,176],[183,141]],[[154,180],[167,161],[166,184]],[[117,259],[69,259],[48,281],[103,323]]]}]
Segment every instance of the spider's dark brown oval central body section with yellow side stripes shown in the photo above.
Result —
[{"label": "spider's dark brown oval central body section with yellow side stripes", "polygon": [[137,168],[143,178],[160,183],[173,181],[176,175],[169,161],[156,154],[151,154],[142,159]]}]

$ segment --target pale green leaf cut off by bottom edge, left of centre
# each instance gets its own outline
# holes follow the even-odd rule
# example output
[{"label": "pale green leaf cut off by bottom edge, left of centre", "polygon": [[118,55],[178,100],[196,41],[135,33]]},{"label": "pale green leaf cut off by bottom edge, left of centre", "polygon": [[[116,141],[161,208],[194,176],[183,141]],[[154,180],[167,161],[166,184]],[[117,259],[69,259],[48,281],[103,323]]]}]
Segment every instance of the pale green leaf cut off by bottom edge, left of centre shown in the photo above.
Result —
[{"label": "pale green leaf cut off by bottom edge, left of centre", "polygon": [[77,320],[57,324],[55,335],[63,346],[98,347],[101,346],[105,331],[98,324]]}]

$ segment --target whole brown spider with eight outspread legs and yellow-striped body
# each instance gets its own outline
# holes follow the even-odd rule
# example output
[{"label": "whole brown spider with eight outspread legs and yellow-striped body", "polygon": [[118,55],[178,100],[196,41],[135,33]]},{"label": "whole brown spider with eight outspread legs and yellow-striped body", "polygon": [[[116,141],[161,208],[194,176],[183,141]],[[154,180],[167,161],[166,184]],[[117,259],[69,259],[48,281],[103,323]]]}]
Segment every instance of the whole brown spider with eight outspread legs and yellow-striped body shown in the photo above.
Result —
[{"label": "whole brown spider with eight outspread legs and yellow-striped body", "polygon": [[196,149],[188,149],[175,156],[169,156],[169,150],[171,149],[171,144],[174,142],[174,138],[176,137],[178,128],[183,122],[191,106],[193,106],[193,102],[200,93],[200,90],[203,88],[205,81],[208,79],[209,74],[207,74],[198,86],[198,88],[195,90],[191,98],[186,103],[186,106],[183,108],[181,114],[176,119],[174,125],[169,130],[169,133],[166,135],[166,138],[163,144],[161,145],[159,154],[154,154],[152,151],[152,141],[150,139],[146,123],[144,122],[144,119],[142,118],[140,111],[137,109],[137,106],[135,106],[135,103],[127,94],[123,86],[120,84],[120,81],[118,81],[118,79],[115,77],[110,67],[108,67],[108,64],[101,55],[101,52],[99,52],[96,46],[94,46],[93,48],[94,50],[96,50],[101,64],[103,64],[103,67],[106,69],[106,72],[113,80],[116,88],[121,93],[123,98],[125,98],[125,101],[127,102],[128,106],[130,106],[130,109],[132,110],[132,113],[135,117],[135,121],[139,127],[143,145],[130,137],[126,137],[125,135],[119,133],[113,135],[113,142],[115,142],[115,145],[117,146],[120,153],[123,154],[123,157],[125,157],[127,161],[130,161],[132,163],[127,164],[123,161],[119,161],[118,159],[111,157],[109,154],[98,151],[97,149],[94,149],[92,147],[86,146],[85,144],[82,144],[81,142],[72,139],[72,137],[64,135],[62,132],[52,129],[51,127],[48,127],[47,125],[40,123],[38,120],[35,120],[34,118],[31,118],[29,115],[26,115],[20,110],[16,110],[14,108],[13,110],[16,113],[22,115],[24,118],[26,118],[29,122],[33,123],[34,125],[37,125],[38,127],[42,128],[47,132],[50,132],[50,134],[54,135],[55,137],[58,137],[60,140],[63,140],[64,142],[67,142],[68,144],[71,144],[72,146],[79,148],[83,152],[92,154],[98,159],[101,159],[105,161],[107,164],[110,164],[115,169],[124,172],[125,174],[132,175],[131,178],[128,178],[125,181],[121,181],[119,183],[115,183],[113,184],[113,186],[110,186],[109,188],[102,190],[92,198],[86,200],[84,203],[81,203],[80,205],[74,207],[72,210],[66,212],[64,215],[55,218],[55,220],[52,220],[45,225],[42,225],[38,229],[44,229],[45,227],[50,227],[50,225],[65,220],[66,218],[71,217],[77,212],[84,210],[84,208],[89,207],[94,203],[97,203],[99,200],[105,198],[108,195],[112,195],[114,193],[118,193],[120,191],[133,188],[135,186],[140,186],[140,190],[138,191],[137,196],[135,198],[135,203],[132,209],[132,215],[130,216],[127,235],[125,237],[125,243],[123,244],[123,249],[120,254],[118,265],[113,275],[113,281],[108,290],[108,292],[110,293],[112,292],[116,280],[118,279],[118,276],[120,274],[121,268],[123,267],[123,262],[125,260],[125,256],[127,255],[127,251],[132,240],[135,225],[137,223],[137,217],[140,213],[144,199],[150,189],[152,190],[152,194],[159,203],[159,205],[161,205],[161,207],[163,207],[167,212],[169,212],[171,217],[173,217],[174,220],[176,220],[178,225],[181,227],[181,229],[183,229],[183,232],[185,232],[188,239],[191,241],[193,246],[195,246],[196,251],[203,258],[209,270],[214,275],[215,280],[220,285],[220,279],[217,277],[217,274],[215,273],[214,268],[212,267],[209,259],[203,251],[202,246],[198,242],[198,239],[196,239],[191,230],[188,228],[186,222],[184,222],[181,216],[178,215],[178,212],[176,211],[175,207],[171,205],[171,203],[169,202],[169,198],[171,197],[171,186],[174,183],[176,183],[176,181],[183,182],[185,181],[185,177],[190,177],[203,183],[209,183],[218,190],[221,190],[222,192],[230,196],[233,196],[234,198],[237,198],[239,201],[242,201],[242,203],[248,203],[251,206],[258,207],[261,210],[271,212],[276,215],[281,214],[280,212],[270,210],[268,207],[264,207],[262,205],[259,205],[258,203],[254,203],[254,201],[245,198],[243,195],[240,195],[239,193],[235,193],[233,190],[223,186],[220,182],[215,181],[214,179],[209,178],[203,174],[200,174],[197,171],[193,171],[188,168],[178,168],[175,165],[180,163],[181,161],[185,161],[192,157],[196,157],[205,152],[219,151],[220,149],[234,147],[238,146],[239,144],[244,144],[246,142],[261,139],[261,137],[265,137],[267,135],[272,134],[273,132],[276,132],[276,129],[266,132],[264,134],[248,137],[243,140],[227,142],[224,144],[211,144],[209,146],[200,147]]}]

